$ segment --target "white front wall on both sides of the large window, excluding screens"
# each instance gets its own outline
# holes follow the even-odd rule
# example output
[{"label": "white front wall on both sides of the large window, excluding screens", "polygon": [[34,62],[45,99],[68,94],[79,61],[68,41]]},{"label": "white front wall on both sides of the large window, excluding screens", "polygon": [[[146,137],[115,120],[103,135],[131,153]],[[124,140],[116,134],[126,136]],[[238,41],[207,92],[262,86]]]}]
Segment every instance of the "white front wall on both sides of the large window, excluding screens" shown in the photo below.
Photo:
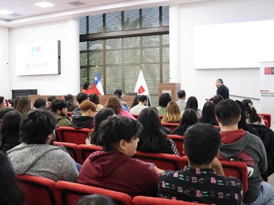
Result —
[{"label": "white front wall on both sides of the large window, excluding screens", "polygon": [[[215,94],[217,78],[225,81],[231,95],[259,98],[258,68],[195,70],[192,67],[192,27],[274,19],[273,8],[273,0],[217,0],[170,5],[171,82],[181,82],[187,96],[197,96],[200,108],[205,98]],[[16,44],[51,39],[61,40],[62,74],[16,76]],[[9,29],[0,27],[0,45],[0,95],[11,97],[10,90],[16,89],[38,89],[41,95],[79,92],[77,18]],[[253,101],[258,107],[259,100]]]}]

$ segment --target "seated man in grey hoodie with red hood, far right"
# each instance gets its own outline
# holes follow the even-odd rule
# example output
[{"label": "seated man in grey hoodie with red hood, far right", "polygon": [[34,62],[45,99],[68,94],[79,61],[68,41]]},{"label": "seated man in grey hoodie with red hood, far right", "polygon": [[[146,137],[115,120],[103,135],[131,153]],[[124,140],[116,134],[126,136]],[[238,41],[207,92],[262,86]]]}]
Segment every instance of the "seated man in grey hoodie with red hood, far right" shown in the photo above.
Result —
[{"label": "seated man in grey hoodie with red hood, far right", "polygon": [[267,170],[266,150],[256,135],[238,129],[240,107],[227,99],[215,107],[216,120],[221,128],[220,156],[247,163],[248,189],[245,204],[274,204],[274,189],[262,180]]}]

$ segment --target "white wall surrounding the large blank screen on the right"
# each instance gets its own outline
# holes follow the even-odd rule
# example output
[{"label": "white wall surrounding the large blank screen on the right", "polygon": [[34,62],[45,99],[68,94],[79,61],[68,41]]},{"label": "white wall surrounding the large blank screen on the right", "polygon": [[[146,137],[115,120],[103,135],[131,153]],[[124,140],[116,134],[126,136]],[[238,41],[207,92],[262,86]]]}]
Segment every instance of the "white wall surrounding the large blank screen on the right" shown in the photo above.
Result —
[{"label": "white wall surrounding the large blank screen on the right", "polygon": [[[173,30],[177,30],[176,23],[170,25],[170,38],[174,42],[179,36],[178,42],[181,44],[180,49],[177,49],[180,53],[181,85],[187,97],[198,98],[200,108],[205,98],[216,94],[215,80],[218,78],[223,79],[229,87],[229,94],[253,98],[260,97],[260,80],[256,68],[195,70],[192,65],[193,26],[274,19],[273,8],[273,0],[216,0],[181,4],[177,18],[174,16],[176,12],[170,12],[171,18],[179,20],[180,25],[179,35],[173,35]],[[171,55],[170,60],[177,61],[177,55]],[[176,72],[176,68],[171,67],[171,72]],[[259,108],[260,101],[253,102]]]}]

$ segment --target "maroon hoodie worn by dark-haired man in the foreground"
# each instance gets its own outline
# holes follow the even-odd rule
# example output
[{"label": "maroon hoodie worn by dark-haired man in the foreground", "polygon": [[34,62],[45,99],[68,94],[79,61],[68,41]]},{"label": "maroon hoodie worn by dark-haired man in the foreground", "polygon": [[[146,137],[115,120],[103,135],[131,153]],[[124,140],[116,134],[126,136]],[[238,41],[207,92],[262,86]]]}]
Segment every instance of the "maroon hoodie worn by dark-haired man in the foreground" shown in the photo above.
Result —
[{"label": "maroon hoodie worn by dark-haired man in the foreground", "polygon": [[82,165],[77,182],[131,196],[156,196],[158,174],[150,163],[121,152],[93,152]]}]

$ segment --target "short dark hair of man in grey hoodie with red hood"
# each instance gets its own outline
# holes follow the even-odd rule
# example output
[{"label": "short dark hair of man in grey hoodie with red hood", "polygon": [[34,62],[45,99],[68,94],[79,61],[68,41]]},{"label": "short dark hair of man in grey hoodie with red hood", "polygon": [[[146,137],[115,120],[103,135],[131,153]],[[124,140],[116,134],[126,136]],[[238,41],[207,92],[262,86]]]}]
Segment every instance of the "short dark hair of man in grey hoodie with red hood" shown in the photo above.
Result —
[{"label": "short dark hair of man in grey hoodie with red hood", "polygon": [[226,99],[216,105],[215,115],[223,125],[233,125],[238,123],[240,107],[234,100]]}]

